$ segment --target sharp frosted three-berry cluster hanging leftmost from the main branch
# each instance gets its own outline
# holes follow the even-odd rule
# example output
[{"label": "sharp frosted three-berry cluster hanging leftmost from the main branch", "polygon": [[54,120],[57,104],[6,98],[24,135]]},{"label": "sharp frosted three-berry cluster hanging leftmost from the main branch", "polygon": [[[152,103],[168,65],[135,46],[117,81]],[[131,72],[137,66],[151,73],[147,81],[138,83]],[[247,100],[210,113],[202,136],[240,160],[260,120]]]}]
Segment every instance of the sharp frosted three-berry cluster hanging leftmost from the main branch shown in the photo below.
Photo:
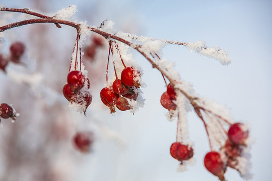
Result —
[{"label": "sharp frosted three-berry cluster hanging leftmost from the main branch", "polygon": [[[83,87],[85,89],[82,91]],[[69,102],[85,106],[86,111],[92,103],[89,89],[90,80],[81,71],[73,70],[67,75],[67,83],[63,86],[62,93]]]}]

